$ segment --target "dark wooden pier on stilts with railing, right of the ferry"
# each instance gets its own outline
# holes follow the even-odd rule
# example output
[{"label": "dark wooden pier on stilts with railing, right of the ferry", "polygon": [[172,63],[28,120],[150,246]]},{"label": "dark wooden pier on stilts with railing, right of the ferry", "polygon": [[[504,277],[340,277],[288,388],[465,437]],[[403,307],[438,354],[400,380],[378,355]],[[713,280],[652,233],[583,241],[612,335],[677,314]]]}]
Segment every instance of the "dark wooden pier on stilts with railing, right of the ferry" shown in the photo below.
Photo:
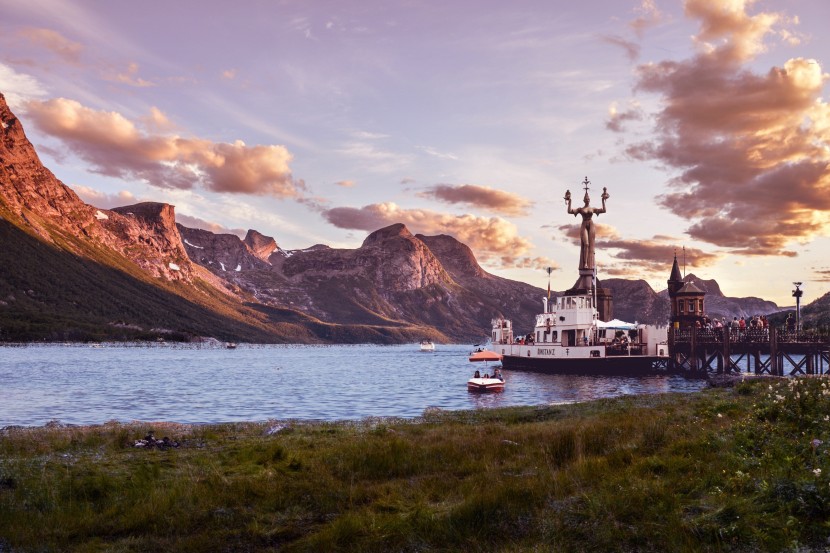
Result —
[{"label": "dark wooden pier on stilts with railing, right of the ferry", "polygon": [[784,329],[669,329],[671,373],[830,374],[830,333]]}]

